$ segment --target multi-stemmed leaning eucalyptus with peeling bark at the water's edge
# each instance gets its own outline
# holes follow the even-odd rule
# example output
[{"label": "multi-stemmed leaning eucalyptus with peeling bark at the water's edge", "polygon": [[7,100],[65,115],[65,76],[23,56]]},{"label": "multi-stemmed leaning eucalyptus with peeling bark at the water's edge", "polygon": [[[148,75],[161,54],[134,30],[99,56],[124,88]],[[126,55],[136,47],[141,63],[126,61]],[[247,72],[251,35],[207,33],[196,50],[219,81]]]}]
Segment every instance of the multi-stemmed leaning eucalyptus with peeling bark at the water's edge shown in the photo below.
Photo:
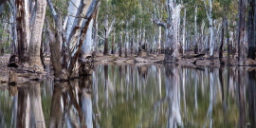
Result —
[{"label": "multi-stemmed leaning eucalyptus with peeling bark at the water's edge", "polygon": [[[47,27],[47,33],[50,44],[55,77],[66,79],[76,69],[76,63],[79,59],[80,64],[85,65],[85,74],[90,74],[92,40],[91,34],[93,17],[98,8],[100,0],[76,0],[70,1],[68,6],[68,16],[62,22],[62,16],[58,13],[50,0],[47,0],[51,14],[54,17],[56,27]],[[65,31],[65,36],[63,32]],[[85,46],[83,46],[85,45]],[[82,49],[84,47],[85,49]],[[67,52],[67,65],[63,65],[65,60],[60,60],[60,49]],[[82,54],[81,54],[82,53]],[[78,65],[77,65],[78,66]],[[82,66],[82,69],[84,66]],[[67,69],[68,72],[65,71]],[[69,75],[68,75],[69,74]],[[64,78],[63,78],[64,77]]]}]

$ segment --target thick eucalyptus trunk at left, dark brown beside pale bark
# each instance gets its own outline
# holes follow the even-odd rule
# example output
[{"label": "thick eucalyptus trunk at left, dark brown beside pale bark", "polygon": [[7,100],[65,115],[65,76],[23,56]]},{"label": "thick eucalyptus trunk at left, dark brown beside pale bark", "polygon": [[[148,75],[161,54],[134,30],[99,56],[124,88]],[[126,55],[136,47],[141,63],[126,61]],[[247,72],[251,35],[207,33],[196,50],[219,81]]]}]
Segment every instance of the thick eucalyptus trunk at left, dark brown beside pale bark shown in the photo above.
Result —
[{"label": "thick eucalyptus trunk at left, dark brown beside pale bark", "polygon": [[46,15],[46,0],[16,0],[15,5],[19,62],[42,70],[40,46]]}]

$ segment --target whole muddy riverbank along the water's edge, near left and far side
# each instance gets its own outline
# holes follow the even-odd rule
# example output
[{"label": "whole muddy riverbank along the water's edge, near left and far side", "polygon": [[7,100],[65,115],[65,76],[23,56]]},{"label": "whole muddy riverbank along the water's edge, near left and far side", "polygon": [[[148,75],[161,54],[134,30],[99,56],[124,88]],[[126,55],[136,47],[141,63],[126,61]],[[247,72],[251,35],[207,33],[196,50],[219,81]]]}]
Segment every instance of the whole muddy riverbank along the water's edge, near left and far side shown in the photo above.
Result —
[{"label": "whole muddy riverbank along the water's edge, near left and far side", "polygon": [[[0,64],[0,84],[6,84],[9,82],[10,71],[14,71],[17,77],[17,83],[21,84],[29,81],[41,81],[43,79],[54,78],[52,75],[52,67],[50,66],[50,58],[45,58],[45,63],[48,65],[46,67],[46,72],[34,72],[32,68],[26,67],[8,67],[9,55],[1,56]],[[228,64],[228,59],[224,58],[223,61],[225,64],[220,64],[218,56],[214,56],[214,64],[210,64],[210,57],[204,54],[187,54],[179,58],[176,64],[182,67],[191,67],[191,68],[202,68],[202,67],[220,67],[220,66],[238,66],[236,59],[231,59],[231,63]],[[155,55],[149,54],[143,57],[137,57],[133,55],[132,57],[119,57],[119,55],[108,55],[103,56],[102,54],[97,54],[93,59],[93,64],[136,64],[136,65],[148,65],[148,64],[163,64],[164,54]],[[243,65],[247,67],[255,67],[256,62],[253,60],[247,60],[247,64]]]}]

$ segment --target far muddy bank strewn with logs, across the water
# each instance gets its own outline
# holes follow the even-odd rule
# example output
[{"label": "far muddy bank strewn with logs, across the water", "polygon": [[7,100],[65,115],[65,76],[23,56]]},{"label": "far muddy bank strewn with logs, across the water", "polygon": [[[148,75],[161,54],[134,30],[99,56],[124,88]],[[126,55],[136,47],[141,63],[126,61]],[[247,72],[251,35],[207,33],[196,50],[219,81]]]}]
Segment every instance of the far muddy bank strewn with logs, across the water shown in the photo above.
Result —
[{"label": "far muddy bank strewn with logs, across the water", "polygon": [[[137,57],[136,55],[132,57],[119,57],[118,55],[111,55],[111,56],[103,56],[97,55],[94,58],[94,64],[137,64],[137,63],[150,63],[150,64],[163,64],[164,61],[164,54],[155,55],[150,54],[144,57]],[[214,56],[213,64],[210,64],[210,57],[204,54],[186,54],[181,56],[178,59],[176,64],[180,64],[182,66],[238,66],[238,60],[230,59],[230,63],[228,64],[228,58],[224,57],[223,61],[225,64],[220,64],[219,57]],[[256,61],[254,60],[247,60],[246,64],[243,66],[256,66]]]}]

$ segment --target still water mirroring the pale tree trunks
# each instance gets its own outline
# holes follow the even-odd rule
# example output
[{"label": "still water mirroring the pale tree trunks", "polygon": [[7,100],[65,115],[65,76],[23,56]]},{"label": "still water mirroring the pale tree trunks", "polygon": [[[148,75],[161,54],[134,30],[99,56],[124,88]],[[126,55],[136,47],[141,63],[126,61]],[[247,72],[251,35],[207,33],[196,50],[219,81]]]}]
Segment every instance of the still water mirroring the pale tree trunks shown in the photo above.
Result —
[{"label": "still water mirroring the pale tree trunks", "polygon": [[0,89],[1,128],[256,127],[248,67],[95,65],[70,82]]}]

